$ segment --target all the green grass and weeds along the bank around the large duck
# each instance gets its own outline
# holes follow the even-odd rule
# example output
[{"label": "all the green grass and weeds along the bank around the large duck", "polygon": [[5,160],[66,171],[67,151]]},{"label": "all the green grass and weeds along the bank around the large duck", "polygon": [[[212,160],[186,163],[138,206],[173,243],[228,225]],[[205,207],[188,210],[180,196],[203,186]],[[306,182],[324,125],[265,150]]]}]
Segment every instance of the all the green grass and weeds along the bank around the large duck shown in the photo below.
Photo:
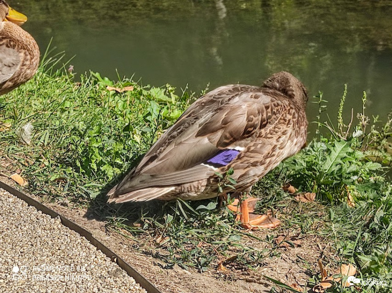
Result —
[{"label": "all the green grass and weeds along the bank around the large duck", "polygon": [[[9,130],[0,131],[2,173],[11,175],[20,169],[29,181],[29,192],[88,205],[107,221],[108,229],[136,242],[153,243],[156,250],[150,253],[167,268],[177,264],[205,271],[223,261],[245,270],[279,256],[272,233],[260,236],[245,231],[225,206],[218,207],[216,199],[106,204],[105,191],[199,95],[187,90],[177,94],[170,85],[142,86],[132,79],[114,83],[98,73],[84,74],[75,82],[72,73],[53,69],[56,62],[47,59],[33,80],[0,96],[0,122],[11,124]],[[107,86],[134,89],[119,93]],[[283,229],[328,239],[336,250],[336,265],[351,262],[362,278],[388,280],[391,286],[392,185],[389,169],[382,164],[391,161],[392,120],[383,124],[374,118],[370,123],[366,94],[362,100],[364,110],[358,119],[344,125],[343,98],[335,130],[330,121],[321,122],[325,107],[319,93],[315,138],[270,172],[252,193],[263,195],[258,205],[261,213],[290,210]],[[29,145],[20,142],[18,135],[27,123],[34,127]],[[300,191],[315,192],[321,205],[294,202],[282,189],[288,182]],[[305,212],[296,213],[298,208]],[[133,225],[135,221],[138,225]],[[312,273],[311,282],[317,282],[318,272]],[[352,290],[337,284],[331,292]],[[364,292],[389,289],[371,287]]]}]

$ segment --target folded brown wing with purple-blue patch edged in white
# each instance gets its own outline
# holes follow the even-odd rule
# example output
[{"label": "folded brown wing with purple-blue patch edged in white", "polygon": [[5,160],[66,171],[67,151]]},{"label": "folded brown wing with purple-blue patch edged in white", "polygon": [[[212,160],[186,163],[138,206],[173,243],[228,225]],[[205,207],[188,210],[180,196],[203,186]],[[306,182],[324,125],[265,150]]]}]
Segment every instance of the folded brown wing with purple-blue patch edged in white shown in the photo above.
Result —
[{"label": "folded brown wing with purple-blue patch edged in white", "polygon": [[244,85],[224,86],[207,93],[181,115],[108,195],[116,198],[146,187],[178,185],[213,176],[217,169],[210,164],[215,162],[212,158],[223,156],[221,166],[228,164],[252,137],[273,126],[284,111],[281,106],[287,104],[285,100],[273,98],[259,87]]}]

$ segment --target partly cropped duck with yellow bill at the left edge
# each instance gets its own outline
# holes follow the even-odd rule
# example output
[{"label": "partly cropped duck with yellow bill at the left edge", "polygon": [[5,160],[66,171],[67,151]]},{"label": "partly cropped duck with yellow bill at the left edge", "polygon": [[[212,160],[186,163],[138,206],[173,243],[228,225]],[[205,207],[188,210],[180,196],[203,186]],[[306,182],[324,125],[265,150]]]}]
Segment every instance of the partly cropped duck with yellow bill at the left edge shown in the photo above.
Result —
[{"label": "partly cropped duck with yellow bill at the left edge", "polygon": [[21,28],[22,13],[0,0],[0,95],[30,80],[39,66],[40,50],[34,38]]}]

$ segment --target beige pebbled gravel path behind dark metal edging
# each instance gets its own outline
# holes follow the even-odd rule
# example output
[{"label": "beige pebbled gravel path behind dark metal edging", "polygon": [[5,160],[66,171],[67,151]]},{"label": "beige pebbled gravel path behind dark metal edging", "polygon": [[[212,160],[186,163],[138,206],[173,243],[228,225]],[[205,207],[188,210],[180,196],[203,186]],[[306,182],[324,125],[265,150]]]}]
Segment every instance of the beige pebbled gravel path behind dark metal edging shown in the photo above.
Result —
[{"label": "beige pebbled gravel path behind dark metal edging", "polygon": [[0,189],[0,293],[146,293],[84,237]]}]

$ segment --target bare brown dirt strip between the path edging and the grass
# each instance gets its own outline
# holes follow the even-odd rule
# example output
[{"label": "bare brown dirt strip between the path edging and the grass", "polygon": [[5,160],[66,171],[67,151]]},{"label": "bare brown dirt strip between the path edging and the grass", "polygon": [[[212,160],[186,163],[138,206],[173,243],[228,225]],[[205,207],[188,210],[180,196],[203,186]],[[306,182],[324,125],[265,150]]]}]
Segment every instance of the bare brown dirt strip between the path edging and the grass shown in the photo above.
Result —
[{"label": "bare brown dirt strip between the path edging and the grass", "polygon": [[[3,176],[0,176],[0,180],[15,186],[13,181]],[[163,269],[162,261],[151,256],[158,248],[154,247],[153,241],[149,241],[151,237],[148,235],[146,241],[137,242],[106,229],[105,222],[98,221],[96,215],[91,214],[87,208],[76,207],[72,203],[69,206],[62,205],[64,203],[49,203],[34,195],[30,196],[89,230],[94,237],[121,256],[163,293],[267,293],[270,292],[273,283],[264,276],[303,292],[307,280],[319,272],[318,260],[328,260],[333,257],[333,250],[325,238],[319,235],[305,236],[298,230],[284,231],[277,228],[253,233],[261,238],[265,238],[266,235],[274,238],[285,235],[286,239],[293,241],[295,247],[287,245],[277,248],[279,253],[272,258],[263,259],[256,270],[238,269],[230,263],[224,264],[225,270],[219,270],[216,266],[204,273],[183,270],[178,266]],[[252,239],[249,238],[249,242],[251,241]],[[306,287],[306,289],[309,291],[310,288]],[[281,289],[276,292],[279,290]]]}]

